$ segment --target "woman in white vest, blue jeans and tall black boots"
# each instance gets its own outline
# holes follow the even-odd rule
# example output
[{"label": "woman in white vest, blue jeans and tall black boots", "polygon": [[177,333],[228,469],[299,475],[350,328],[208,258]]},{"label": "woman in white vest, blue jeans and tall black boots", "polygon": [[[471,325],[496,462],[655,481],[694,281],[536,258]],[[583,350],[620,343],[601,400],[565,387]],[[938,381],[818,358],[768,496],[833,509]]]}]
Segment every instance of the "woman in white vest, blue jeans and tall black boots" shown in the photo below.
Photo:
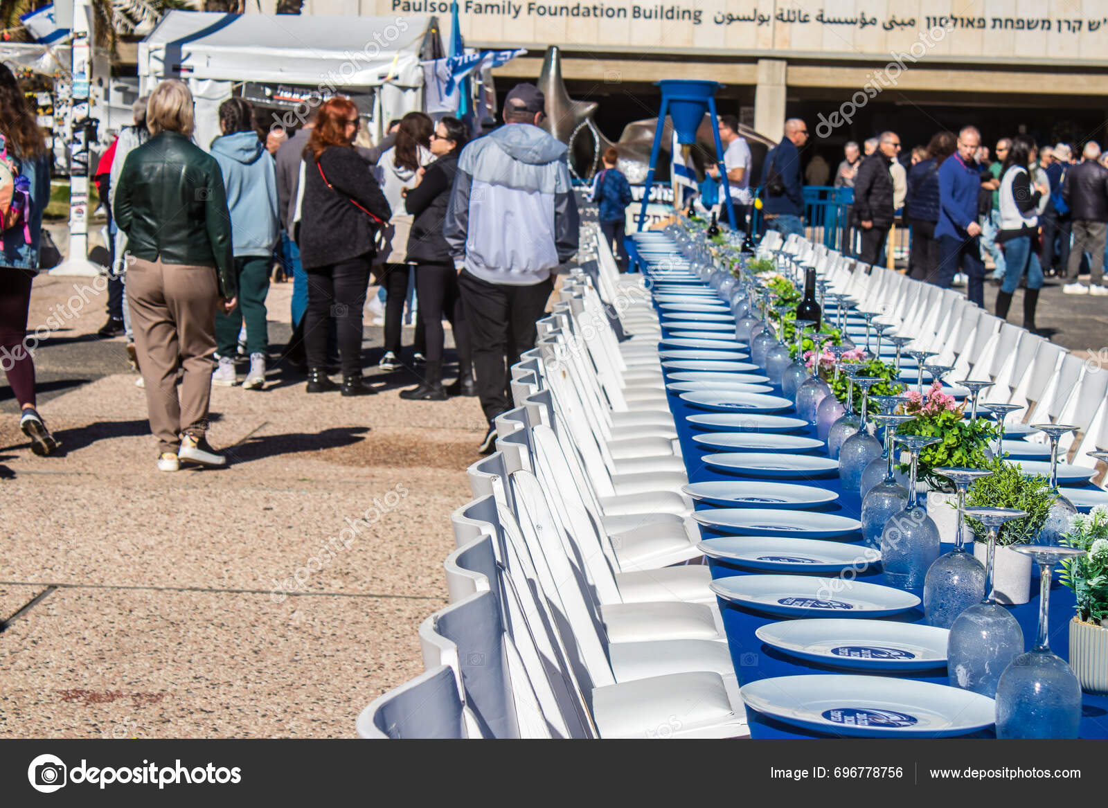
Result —
[{"label": "woman in white vest, blue jeans and tall black boots", "polygon": [[1012,305],[1012,295],[1019,286],[1019,278],[1027,274],[1024,292],[1024,328],[1035,330],[1035,309],[1039,289],[1043,288],[1043,265],[1037,254],[1038,202],[1050,186],[1032,184],[1027,166],[1035,142],[1026,135],[1012,140],[1008,155],[1001,168],[1001,231],[996,243],[1004,249],[1004,280],[996,295],[996,316],[1005,319]]}]

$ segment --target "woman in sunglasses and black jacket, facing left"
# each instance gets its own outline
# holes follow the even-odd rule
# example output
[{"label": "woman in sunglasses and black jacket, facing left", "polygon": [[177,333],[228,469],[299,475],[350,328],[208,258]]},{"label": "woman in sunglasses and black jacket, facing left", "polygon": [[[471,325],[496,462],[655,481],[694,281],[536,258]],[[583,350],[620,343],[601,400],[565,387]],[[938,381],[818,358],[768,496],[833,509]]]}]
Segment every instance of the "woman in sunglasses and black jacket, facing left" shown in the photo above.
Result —
[{"label": "woman in sunglasses and black jacket, facing left", "polygon": [[447,217],[450,190],[458,173],[458,154],[465,145],[465,124],[456,117],[443,117],[431,135],[431,153],[438,160],[421,170],[418,182],[404,193],[404,206],[414,216],[408,237],[408,259],[416,262],[416,293],[420,317],[427,335],[427,376],[419,387],[403,390],[400,398],[445,401],[442,386],[442,352],[445,316],[454,331],[458,348],[458,381],[449,390],[454,395],[474,396],[473,366],[470,358],[469,331],[458,290],[458,270],[450,256],[442,223]]}]

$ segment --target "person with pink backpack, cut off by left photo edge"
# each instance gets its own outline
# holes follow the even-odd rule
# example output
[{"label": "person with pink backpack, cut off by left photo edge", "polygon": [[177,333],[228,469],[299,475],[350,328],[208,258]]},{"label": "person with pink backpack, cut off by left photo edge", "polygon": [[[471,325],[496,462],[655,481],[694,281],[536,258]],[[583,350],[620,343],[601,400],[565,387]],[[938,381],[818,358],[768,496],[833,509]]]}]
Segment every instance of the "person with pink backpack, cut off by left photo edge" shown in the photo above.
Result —
[{"label": "person with pink backpack, cut off by left photo edge", "polygon": [[34,360],[25,340],[42,212],[50,201],[50,152],[34,109],[2,63],[0,137],[0,367],[19,403],[20,431],[31,439],[31,451],[48,457],[59,441],[35,409]]}]

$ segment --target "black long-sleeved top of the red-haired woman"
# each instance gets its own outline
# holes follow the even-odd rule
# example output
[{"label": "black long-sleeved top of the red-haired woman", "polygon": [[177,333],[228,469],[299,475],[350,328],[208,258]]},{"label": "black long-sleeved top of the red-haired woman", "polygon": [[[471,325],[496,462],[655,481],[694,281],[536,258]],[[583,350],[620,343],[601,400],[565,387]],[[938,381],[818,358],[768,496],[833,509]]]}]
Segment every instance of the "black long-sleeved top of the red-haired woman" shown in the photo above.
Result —
[{"label": "black long-sleeved top of the red-haired woman", "polygon": [[[324,182],[320,166],[331,187]],[[382,222],[392,216],[389,201],[358,152],[330,146],[319,156],[318,165],[309,153],[297,234],[305,269],[375,254],[373,236],[380,225],[355,202]]]}]

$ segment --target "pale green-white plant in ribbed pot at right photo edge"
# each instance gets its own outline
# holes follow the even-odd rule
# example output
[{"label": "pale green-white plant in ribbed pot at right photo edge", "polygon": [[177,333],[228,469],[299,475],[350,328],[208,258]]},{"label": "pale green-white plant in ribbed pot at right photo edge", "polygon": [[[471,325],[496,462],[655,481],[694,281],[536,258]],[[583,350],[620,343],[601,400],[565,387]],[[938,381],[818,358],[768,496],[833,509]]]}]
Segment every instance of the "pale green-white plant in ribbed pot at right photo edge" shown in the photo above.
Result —
[{"label": "pale green-white plant in ribbed pot at right photo edge", "polygon": [[1063,563],[1061,582],[1077,599],[1069,623],[1069,666],[1081,689],[1108,695],[1108,508],[1078,514],[1063,542],[1084,550]]}]

